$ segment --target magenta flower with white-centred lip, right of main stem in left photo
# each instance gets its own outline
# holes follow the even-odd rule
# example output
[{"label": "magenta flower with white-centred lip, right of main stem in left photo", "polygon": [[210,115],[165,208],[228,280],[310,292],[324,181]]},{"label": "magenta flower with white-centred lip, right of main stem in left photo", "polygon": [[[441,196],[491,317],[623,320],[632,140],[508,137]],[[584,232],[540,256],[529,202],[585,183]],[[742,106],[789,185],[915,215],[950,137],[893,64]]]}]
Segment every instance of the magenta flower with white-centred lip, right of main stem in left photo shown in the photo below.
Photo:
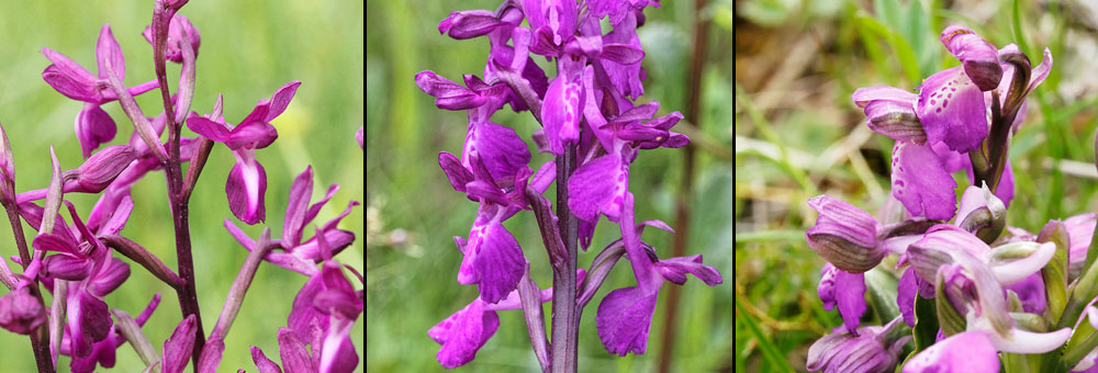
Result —
[{"label": "magenta flower with white-centred lip, right of main stem in left photo", "polygon": [[249,225],[266,219],[267,215],[264,202],[267,171],[256,161],[256,149],[266,148],[278,138],[270,121],[285,111],[299,86],[300,81],[291,81],[274,91],[270,100],[259,100],[251,113],[236,126],[220,117],[203,117],[194,112],[187,118],[188,128],[233,149],[236,166],[228,173],[225,193],[233,215]]}]

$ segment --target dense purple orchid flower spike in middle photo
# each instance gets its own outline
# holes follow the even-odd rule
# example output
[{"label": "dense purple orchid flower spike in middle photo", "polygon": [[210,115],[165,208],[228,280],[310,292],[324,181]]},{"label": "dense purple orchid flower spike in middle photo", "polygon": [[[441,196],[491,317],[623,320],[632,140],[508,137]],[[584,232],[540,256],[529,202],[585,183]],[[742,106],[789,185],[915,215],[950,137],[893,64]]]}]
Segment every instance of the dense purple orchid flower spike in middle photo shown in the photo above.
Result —
[{"label": "dense purple orchid flower spike in middle photo", "polygon": [[[436,106],[467,112],[468,132],[460,157],[441,152],[438,162],[451,187],[480,205],[469,235],[455,238],[464,255],[458,283],[477,284],[480,297],[428,332],[442,344],[437,354],[442,366],[455,368],[474,358],[498,327],[496,310],[523,308],[528,323],[540,324],[529,325],[531,342],[542,369],[548,368],[546,350],[556,346],[545,346],[544,323],[536,321],[541,315],[540,302],[530,292],[519,299],[524,286],[537,286],[528,282],[523,248],[503,225],[524,210],[535,212],[553,265],[558,289],[546,290],[541,296],[542,302],[553,299],[553,336],[562,323],[557,305],[574,295],[580,301],[576,308],[582,309],[605,278],[591,275],[596,272],[592,269],[584,280],[573,257],[578,242],[584,250],[591,246],[602,216],[616,223],[621,234],[621,239],[604,251],[617,255],[605,258],[613,257],[613,265],[625,252],[637,280],[637,286],[612,291],[598,306],[598,336],[610,353],[646,351],[664,282],[682,284],[685,274],[692,273],[706,284],[721,283],[720,274],[702,264],[701,256],[659,259],[640,239],[640,231],[646,225],[670,227],[661,222],[636,223],[629,167],[639,150],[677,148],[690,142],[671,132],[682,114],[660,116],[659,103],[635,102],[643,93],[645,79],[645,52],[637,27],[643,24],[643,10],[649,4],[659,5],[620,0],[507,0],[495,11],[455,12],[438,24],[439,33],[456,39],[486,36],[491,47],[483,76],[466,75],[464,84],[433,71],[415,77],[416,84],[435,97]],[[606,25],[609,27],[604,31]],[[547,76],[535,63],[542,57],[556,65],[556,77]],[[504,105],[516,112],[529,111],[541,124],[528,136],[538,151],[552,155],[553,161],[537,171],[528,166],[533,156],[523,136],[491,121]],[[542,196],[553,182],[558,184],[556,207],[560,216]],[[565,228],[571,224],[572,230]],[[565,278],[579,281],[573,284]],[[579,286],[591,294],[584,298],[574,289],[560,286]],[[573,323],[578,325],[578,318]],[[553,344],[560,343],[568,341],[553,338]]]}]

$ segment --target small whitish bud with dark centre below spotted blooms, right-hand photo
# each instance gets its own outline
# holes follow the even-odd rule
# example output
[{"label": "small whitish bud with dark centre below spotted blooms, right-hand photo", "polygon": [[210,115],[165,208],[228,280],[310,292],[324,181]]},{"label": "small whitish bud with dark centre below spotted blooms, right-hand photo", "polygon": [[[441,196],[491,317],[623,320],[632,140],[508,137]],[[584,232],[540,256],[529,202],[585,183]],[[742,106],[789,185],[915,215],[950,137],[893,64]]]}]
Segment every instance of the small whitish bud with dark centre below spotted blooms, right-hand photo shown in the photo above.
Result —
[{"label": "small whitish bud with dark centre below spotted blooms, right-hand photo", "polygon": [[1007,226],[1007,206],[986,183],[982,188],[971,185],[961,196],[956,225],[990,244]]}]

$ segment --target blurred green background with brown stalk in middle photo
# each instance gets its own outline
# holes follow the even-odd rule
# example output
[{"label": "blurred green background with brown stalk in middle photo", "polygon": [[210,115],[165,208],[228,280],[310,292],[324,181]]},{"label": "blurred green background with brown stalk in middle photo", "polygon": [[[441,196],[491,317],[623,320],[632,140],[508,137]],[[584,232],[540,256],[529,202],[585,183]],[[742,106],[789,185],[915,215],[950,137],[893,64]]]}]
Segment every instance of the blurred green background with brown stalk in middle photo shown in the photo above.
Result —
[{"label": "blurred green background with brown stalk in middle photo", "polygon": [[[457,283],[461,252],[453,236],[468,236],[477,204],[452,190],[438,167],[440,151],[460,154],[464,112],[441,111],[434,98],[415,86],[415,74],[434,70],[455,81],[461,75],[481,76],[488,57],[484,38],[455,41],[439,35],[437,23],[450,12],[494,10],[498,0],[368,1],[367,35],[367,370],[373,372],[441,371],[435,360],[439,344],[427,329],[478,296],[475,286]],[[730,0],[710,1],[703,10],[710,21],[708,58],[702,75],[701,132],[691,134],[697,150],[693,229],[687,253],[701,253],[726,282],[715,287],[692,279],[682,286],[673,348],[672,372],[732,369],[731,262],[731,10]],[[645,97],[660,102],[661,113],[685,112],[686,69],[693,53],[693,1],[664,1],[648,8],[639,29],[647,52]],[[538,58],[538,63],[544,63]],[[542,66],[550,76],[556,68]],[[493,122],[515,128],[529,140],[537,123],[526,112],[501,110]],[[688,125],[680,123],[675,131]],[[531,150],[536,150],[533,149]],[[682,182],[683,149],[643,151],[634,163],[630,185],[637,195],[638,219],[662,219],[675,225],[675,195]],[[547,155],[535,155],[537,168]],[[547,193],[553,200],[553,192]],[[506,222],[531,263],[534,280],[551,285],[551,271],[530,213]],[[581,252],[586,268],[614,240],[615,225],[598,226],[592,249]],[[670,256],[672,235],[649,231],[646,240],[662,257]],[[656,370],[668,309],[669,284],[661,294],[643,355],[618,358],[603,348],[595,330],[597,302],[610,290],[634,286],[628,263],[619,262],[580,326],[580,370],[584,372],[649,372]],[[549,307],[546,306],[547,324]],[[477,359],[459,371],[538,371],[520,312],[501,312],[501,327]]]}]

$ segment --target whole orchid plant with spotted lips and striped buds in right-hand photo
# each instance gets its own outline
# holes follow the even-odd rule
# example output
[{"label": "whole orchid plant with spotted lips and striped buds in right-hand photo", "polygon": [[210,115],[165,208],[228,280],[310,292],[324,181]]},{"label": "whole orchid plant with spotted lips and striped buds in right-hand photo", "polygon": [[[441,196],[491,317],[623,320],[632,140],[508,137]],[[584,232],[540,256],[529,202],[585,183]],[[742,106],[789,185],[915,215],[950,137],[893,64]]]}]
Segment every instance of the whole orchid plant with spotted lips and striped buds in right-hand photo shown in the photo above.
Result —
[{"label": "whole orchid plant with spotted lips and striped buds in right-hand photo", "polygon": [[[1090,369],[1098,357],[1098,308],[1089,305],[1098,271],[1087,260],[1095,214],[1049,222],[1038,234],[1006,225],[1015,193],[1006,150],[1052,56],[1045,49],[1031,67],[1017,46],[996,49],[960,26],[945,29],[941,42],[961,66],[928,77],[918,93],[873,87],[852,97],[869,127],[896,140],[890,205],[903,211],[886,207],[877,219],[827,195],[808,201],[819,217],[806,238],[827,260],[819,297],[828,310],[838,306],[843,326],[813,344],[807,368]],[[952,173],[960,170],[972,184],[959,201]],[[865,272],[892,275],[877,267],[893,256],[899,314],[877,315],[892,320],[885,327],[862,327]],[[916,351],[904,357],[912,335]]]}]

